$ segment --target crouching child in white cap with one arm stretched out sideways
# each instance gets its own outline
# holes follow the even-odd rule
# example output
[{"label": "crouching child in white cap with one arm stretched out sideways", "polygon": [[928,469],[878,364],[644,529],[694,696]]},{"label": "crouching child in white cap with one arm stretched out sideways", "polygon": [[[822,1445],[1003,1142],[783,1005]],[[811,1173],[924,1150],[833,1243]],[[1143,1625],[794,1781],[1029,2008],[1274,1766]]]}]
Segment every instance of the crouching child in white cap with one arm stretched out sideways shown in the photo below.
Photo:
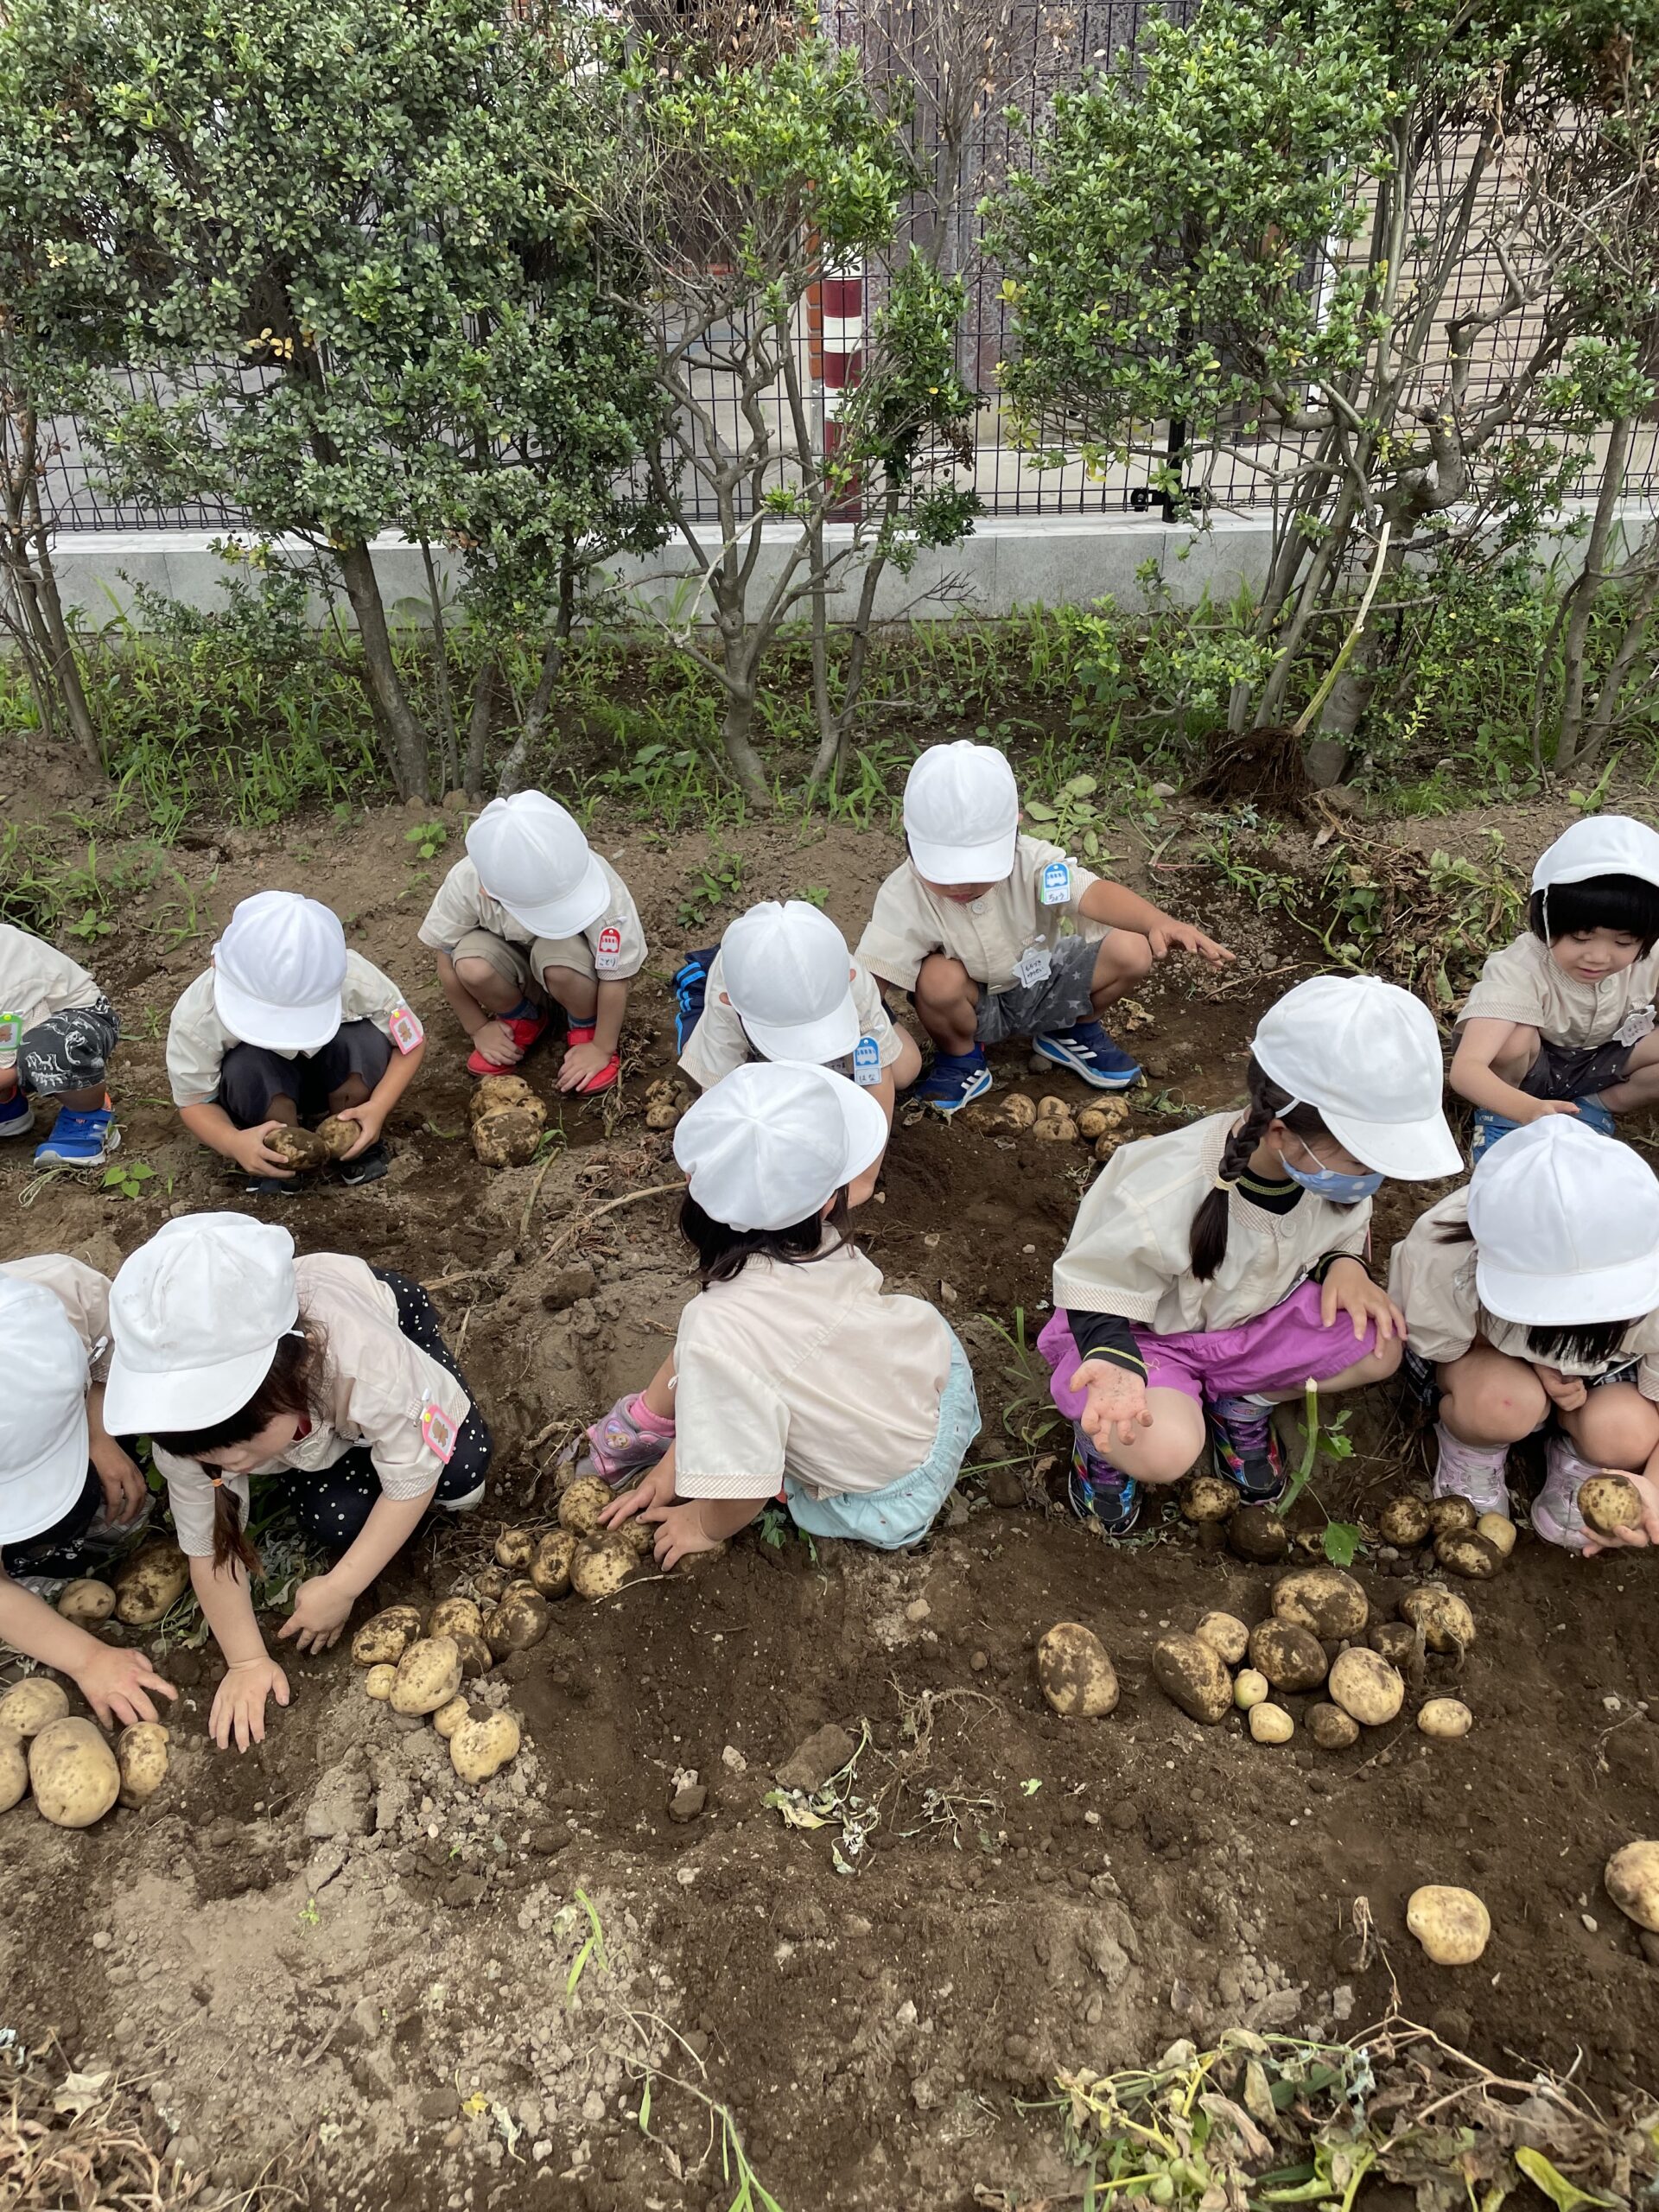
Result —
[{"label": "crouching child in white cap with one arm stretched out sideways", "polygon": [[905,781],[909,860],[876,891],[858,958],[909,991],[933,1040],[914,1093],[958,1113],[991,1088],[989,1044],[1033,1051],[1095,1091],[1126,1091],[1139,1066],[1102,1029],[1170,949],[1232,960],[1190,922],[1022,836],[1013,770],[960,739],[925,752]]}]

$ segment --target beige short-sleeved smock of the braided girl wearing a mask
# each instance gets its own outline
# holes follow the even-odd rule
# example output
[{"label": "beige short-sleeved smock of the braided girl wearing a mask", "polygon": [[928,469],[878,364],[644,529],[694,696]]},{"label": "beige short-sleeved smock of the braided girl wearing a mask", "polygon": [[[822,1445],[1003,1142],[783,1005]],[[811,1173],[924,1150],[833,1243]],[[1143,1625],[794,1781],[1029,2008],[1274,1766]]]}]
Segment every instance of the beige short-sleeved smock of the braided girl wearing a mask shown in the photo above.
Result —
[{"label": "beige short-sleeved smock of the braided girl wearing a mask", "polygon": [[1057,1307],[1121,1314],[1157,1336],[1237,1329],[1283,1305],[1323,1259],[1365,1261],[1369,1199],[1332,1206],[1305,1190],[1287,1214],[1270,1214],[1230,1190],[1225,1256],[1208,1283],[1192,1274],[1192,1219],[1237,1121],[1217,1113],[1113,1152],[1055,1261]]}]

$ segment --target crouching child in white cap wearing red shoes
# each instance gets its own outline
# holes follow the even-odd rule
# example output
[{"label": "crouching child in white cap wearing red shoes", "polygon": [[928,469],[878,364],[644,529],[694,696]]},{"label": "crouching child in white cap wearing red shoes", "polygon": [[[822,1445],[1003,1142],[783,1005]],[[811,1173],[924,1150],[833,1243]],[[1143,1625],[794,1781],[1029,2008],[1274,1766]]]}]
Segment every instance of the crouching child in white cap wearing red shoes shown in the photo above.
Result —
[{"label": "crouching child in white cap wearing red shoes", "polygon": [[420,925],[438,982],[473,1040],[473,1075],[518,1066],[564,1013],[560,1091],[608,1091],[628,982],[646,962],[633,894],[546,792],[491,799]]}]

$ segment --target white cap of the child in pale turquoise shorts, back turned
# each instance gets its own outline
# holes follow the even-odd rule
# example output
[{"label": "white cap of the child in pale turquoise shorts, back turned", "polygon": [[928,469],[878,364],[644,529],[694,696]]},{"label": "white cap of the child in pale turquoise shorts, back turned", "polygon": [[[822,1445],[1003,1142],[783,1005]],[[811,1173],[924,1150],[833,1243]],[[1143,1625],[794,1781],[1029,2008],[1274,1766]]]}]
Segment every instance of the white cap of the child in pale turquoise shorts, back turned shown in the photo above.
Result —
[{"label": "white cap of the child in pale turquoise shorts, back turned", "polygon": [[690,1194],[732,1230],[787,1230],[887,1144],[887,1115],[858,1084],[799,1060],[752,1060],[706,1091],[675,1130]]}]

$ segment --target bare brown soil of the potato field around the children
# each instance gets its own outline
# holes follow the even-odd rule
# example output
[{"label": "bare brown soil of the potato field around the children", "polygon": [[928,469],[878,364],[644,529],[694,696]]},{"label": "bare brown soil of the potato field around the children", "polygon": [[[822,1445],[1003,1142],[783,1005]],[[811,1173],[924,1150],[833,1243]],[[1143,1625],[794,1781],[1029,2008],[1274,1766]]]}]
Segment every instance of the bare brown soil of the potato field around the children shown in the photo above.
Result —
[{"label": "bare brown soil of the potato field around the children", "polygon": [[[1553,834],[1544,814],[1517,825],[1528,849]],[[553,1106],[564,1148],[544,1177],[487,1175],[462,1137],[460,1031],[414,942],[458,830],[422,865],[409,821],[387,807],[173,852],[188,896],[135,896],[86,956],[133,1040],[122,1159],[155,1177],[122,1197],[40,1183],[27,1148],[0,1164],[4,1256],[66,1250],[113,1272],[173,1212],[250,1206],[166,1104],[166,1015],[237,898],[279,885],[338,907],[427,1020],[431,1064],[392,1130],[392,1177],[281,1219],[301,1250],[436,1285],[498,1438],[484,1511],[416,1546],[380,1601],[465,1590],[502,1524],[549,1526],[560,1451],[668,1347],[690,1287],[672,1201],[586,1217],[672,1175],[641,1115],[670,1068],[661,984],[728,918],[684,911],[706,838],[599,834],[653,942],[626,1084],[604,1106]],[[1433,843],[1480,832],[1436,823]],[[898,858],[887,834],[821,823],[719,843],[743,860],[739,905],[827,887],[849,938]],[[1137,1135],[1237,1099],[1252,1018],[1310,951],[1181,854],[1124,872],[1228,933],[1241,962],[1219,987],[1170,964],[1144,993]],[[179,938],[190,900],[199,933]],[[1055,1506],[1057,1433],[1035,1433],[1042,1394],[1011,1338],[1015,1314],[1035,1338],[1093,1164],[995,1119],[1009,1086],[1079,1086],[1031,1077],[1020,1053],[995,1066],[998,1091],[951,1126],[900,1119],[858,1221],[889,1285],[945,1301],[975,1356],[984,1436],[927,1546],[748,1533],[695,1575],[555,1606],[549,1637],[480,1686],[526,1728],[480,1792],[425,1723],[363,1697],[345,1648],[290,1661],[294,1703],[265,1745],[217,1754],[217,1659],[170,1650],[181,1712],[161,1794],[86,1834],[29,1803],[0,1823],[2,2024],[119,2064],[210,2194],[281,2181],[281,2201],[365,2212],[723,2212],[741,2177],[723,2170],[721,2106],[790,2212],[1064,2194],[1057,2115],[1022,2110],[1053,2097],[1057,2068],[1141,2062],[1237,2022],[1352,2033],[1394,1986],[1504,2073],[1577,2066],[1597,2097],[1652,2081],[1659,1964],[1599,1874],[1655,1832],[1659,1568],[1586,1566],[1524,1535],[1500,1579],[1469,1586],[1473,1650],[1429,1663],[1425,1688],[1475,1712],[1462,1743],[1420,1736],[1416,1699],[1340,1754],[1301,1730],[1279,1750],[1237,1719],[1183,1719],[1152,1686],[1152,1641],[1210,1608],[1265,1615],[1272,1573],[1179,1522],[1106,1546]],[[551,1097],[549,1057],[526,1073]],[[1436,1194],[1389,1190],[1380,1243]],[[1416,1440],[1369,1407],[1360,1449],[1296,1524],[1365,1517],[1402,1475],[1422,1475]],[[1369,1542],[1356,1573],[1387,1615],[1420,1562]],[[1113,1655],[1110,1719],[1044,1705],[1033,1650],[1060,1619]],[[768,1792],[825,1728],[858,1752],[847,1803],[790,1827]],[[1405,1933],[1427,1880],[1486,1900],[1478,1969],[1433,1969]]]}]

